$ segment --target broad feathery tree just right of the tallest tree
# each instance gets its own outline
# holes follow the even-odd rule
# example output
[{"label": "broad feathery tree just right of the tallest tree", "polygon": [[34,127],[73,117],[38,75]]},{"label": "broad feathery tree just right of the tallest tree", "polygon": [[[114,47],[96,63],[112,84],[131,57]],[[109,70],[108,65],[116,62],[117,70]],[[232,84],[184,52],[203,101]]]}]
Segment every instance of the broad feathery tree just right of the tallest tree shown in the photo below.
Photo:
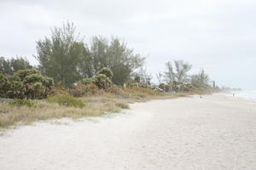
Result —
[{"label": "broad feathery tree just right of the tallest tree", "polygon": [[143,65],[144,58],[133,54],[125,42],[112,38],[108,42],[104,37],[93,37],[90,45],[91,65],[94,74],[107,67],[113,71],[113,83],[122,85],[132,73]]}]

